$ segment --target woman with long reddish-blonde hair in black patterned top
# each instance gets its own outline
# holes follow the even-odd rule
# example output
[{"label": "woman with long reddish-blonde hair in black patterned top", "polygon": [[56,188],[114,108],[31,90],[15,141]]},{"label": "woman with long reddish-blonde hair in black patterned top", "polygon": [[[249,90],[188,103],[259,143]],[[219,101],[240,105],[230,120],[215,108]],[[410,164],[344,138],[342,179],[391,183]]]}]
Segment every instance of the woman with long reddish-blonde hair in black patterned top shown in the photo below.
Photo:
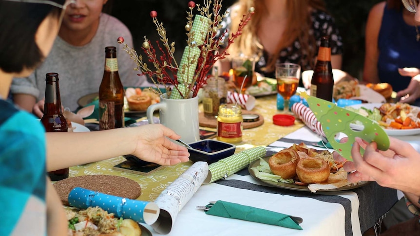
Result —
[{"label": "woman with long reddish-blonde hair in black patterned top", "polygon": [[[257,55],[255,71],[275,78],[277,62],[297,63],[303,71],[312,70],[321,36],[329,36],[332,67],[341,69],[342,38],[334,19],[326,13],[323,0],[238,0],[228,9],[219,32],[236,32],[250,7],[255,8],[255,13],[229,47],[230,55]],[[227,61],[221,65],[222,72],[229,71]]]}]

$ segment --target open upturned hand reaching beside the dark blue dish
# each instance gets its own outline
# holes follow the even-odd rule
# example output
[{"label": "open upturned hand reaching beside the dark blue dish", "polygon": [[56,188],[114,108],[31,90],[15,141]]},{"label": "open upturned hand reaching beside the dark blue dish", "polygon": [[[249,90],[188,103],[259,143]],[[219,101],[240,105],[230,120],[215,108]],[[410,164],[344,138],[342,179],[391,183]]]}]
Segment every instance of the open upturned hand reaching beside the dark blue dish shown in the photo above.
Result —
[{"label": "open upturned hand reaching beside the dark blue dish", "polygon": [[133,131],[136,132],[137,140],[132,154],[141,160],[160,165],[174,165],[190,160],[190,153],[186,147],[168,139],[181,138],[172,129],[161,124],[153,124],[135,127]]}]

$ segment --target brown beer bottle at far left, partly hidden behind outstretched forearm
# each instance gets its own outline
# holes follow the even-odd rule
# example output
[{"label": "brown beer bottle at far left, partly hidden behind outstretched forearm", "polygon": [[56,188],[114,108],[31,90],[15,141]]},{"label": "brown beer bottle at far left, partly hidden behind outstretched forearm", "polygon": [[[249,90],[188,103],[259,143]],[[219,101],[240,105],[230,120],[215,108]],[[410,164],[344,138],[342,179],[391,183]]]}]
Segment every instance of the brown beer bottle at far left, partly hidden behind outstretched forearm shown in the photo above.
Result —
[{"label": "brown beer bottle at far left, partly hidden behind outstretched forearm", "polygon": [[[58,74],[47,73],[45,78],[45,105],[41,123],[46,132],[67,132],[67,120],[61,110],[60,87]],[[69,168],[48,172],[52,181],[59,181],[69,177]]]}]

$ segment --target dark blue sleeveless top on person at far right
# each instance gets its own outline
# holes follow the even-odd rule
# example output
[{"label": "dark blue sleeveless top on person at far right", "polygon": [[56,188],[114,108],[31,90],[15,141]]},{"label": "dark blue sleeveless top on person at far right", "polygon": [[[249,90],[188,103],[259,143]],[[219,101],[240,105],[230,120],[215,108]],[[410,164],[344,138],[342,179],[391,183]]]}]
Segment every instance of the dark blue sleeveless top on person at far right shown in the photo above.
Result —
[{"label": "dark blue sleeveless top on person at far right", "polygon": [[411,80],[401,76],[398,68],[420,68],[420,41],[416,36],[416,27],[405,23],[402,10],[388,9],[386,5],[378,36],[378,76],[381,82],[391,84],[394,91],[406,89]]}]

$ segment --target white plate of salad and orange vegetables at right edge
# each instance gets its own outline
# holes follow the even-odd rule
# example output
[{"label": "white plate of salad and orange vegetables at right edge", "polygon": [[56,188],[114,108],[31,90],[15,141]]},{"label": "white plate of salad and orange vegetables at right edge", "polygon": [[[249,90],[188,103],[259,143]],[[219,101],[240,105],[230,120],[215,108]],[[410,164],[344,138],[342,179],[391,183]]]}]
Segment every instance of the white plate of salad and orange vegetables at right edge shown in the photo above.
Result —
[{"label": "white plate of salad and orange vegetables at right edge", "polygon": [[[397,103],[399,104],[399,103]],[[376,120],[378,121],[378,114],[381,115],[381,117],[383,117],[383,113],[381,114],[381,112],[379,112],[378,110],[375,109],[379,109],[381,108],[381,106],[384,105],[384,103],[363,103],[363,104],[357,104],[357,105],[352,105],[349,106],[352,109],[352,111],[356,111],[359,114],[362,114],[363,116],[366,116],[369,119],[372,120]],[[382,128],[385,130],[385,132],[390,135],[390,136],[408,136],[408,135],[418,135],[420,134],[420,118],[418,118],[419,116],[419,112],[420,112],[420,108],[416,107],[416,106],[411,106],[408,104],[403,104],[403,106],[405,107],[402,110],[405,110],[403,113],[401,113],[401,109],[397,109],[398,105],[396,104],[391,104],[391,103],[386,103],[386,106],[388,106],[388,109],[391,113],[393,113],[393,115],[388,115],[388,119],[386,120],[382,120],[378,121],[378,123],[382,126]],[[409,109],[410,112],[406,112],[406,109]],[[372,112],[372,113],[370,113]],[[402,118],[401,118],[402,115]],[[392,118],[392,117],[395,118]],[[415,128],[409,128],[409,127],[405,127],[403,129],[398,129],[398,128],[393,128],[393,126],[398,127],[398,124],[396,123],[400,123],[400,121],[398,121],[398,118],[400,117],[400,119],[402,120],[402,122],[406,119],[405,117],[411,117],[411,121],[414,121],[416,123]],[[393,123],[393,125],[391,125],[391,122],[395,122]],[[401,124],[401,127],[402,124]]]}]

